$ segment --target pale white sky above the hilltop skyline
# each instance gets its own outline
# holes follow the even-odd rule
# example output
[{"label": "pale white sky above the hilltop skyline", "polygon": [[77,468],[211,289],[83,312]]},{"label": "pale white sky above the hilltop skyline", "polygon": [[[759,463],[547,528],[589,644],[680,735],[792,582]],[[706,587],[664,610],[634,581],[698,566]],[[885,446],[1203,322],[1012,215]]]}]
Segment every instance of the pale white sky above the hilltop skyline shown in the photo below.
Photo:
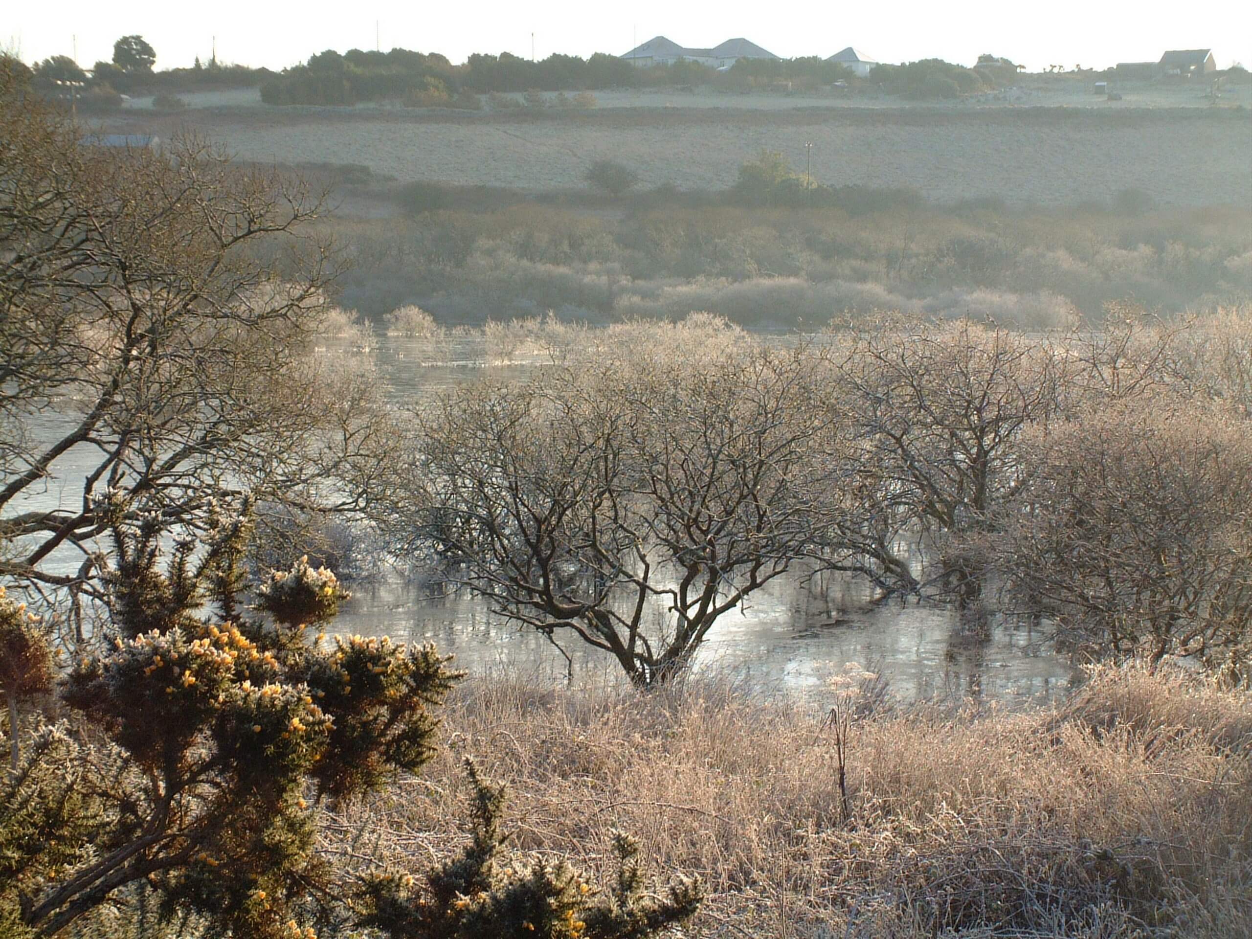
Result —
[{"label": "pale white sky above the hilltop skyline", "polygon": [[[18,6],[20,4],[20,6]],[[15,9],[16,8],[16,9]],[[760,0],[477,0],[418,4],[214,0],[120,4],[9,0],[0,45],[26,61],[73,54],[90,68],[113,56],[118,36],[138,33],[156,49],[156,68],[218,58],[280,69],[314,51],[374,48],[438,51],[459,63],[470,53],[622,54],[666,35],[690,46],[746,36],[776,55],[831,55],[854,45],[879,61],[938,56],[973,64],[980,53],[1007,55],[1032,70],[1159,59],[1166,49],[1211,48],[1218,68],[1252,68],[1252,0],[894,0],[894,3],[769,4]]]}]

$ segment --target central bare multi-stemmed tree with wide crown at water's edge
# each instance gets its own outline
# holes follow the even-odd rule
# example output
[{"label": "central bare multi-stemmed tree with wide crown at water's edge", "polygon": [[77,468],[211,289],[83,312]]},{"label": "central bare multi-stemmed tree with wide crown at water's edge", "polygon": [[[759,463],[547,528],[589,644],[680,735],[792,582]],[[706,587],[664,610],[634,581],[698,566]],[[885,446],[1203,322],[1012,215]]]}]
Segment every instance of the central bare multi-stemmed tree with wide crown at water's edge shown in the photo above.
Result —
[{"label": "central bare multi-stemmed tree with wide crown at water's edge", "polygon": [[639,686],[786,572],[845,482],[819,458],[815,359],[705,326],[443,397],[397,510],[498,612]]}]

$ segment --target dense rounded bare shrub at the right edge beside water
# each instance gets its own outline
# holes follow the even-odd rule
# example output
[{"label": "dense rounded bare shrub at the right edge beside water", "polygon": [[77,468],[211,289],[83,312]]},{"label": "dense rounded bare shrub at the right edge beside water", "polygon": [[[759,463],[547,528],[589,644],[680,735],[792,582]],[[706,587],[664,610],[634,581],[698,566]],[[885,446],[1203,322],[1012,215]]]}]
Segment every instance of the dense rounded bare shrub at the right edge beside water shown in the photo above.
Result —
[{"label": "dense rounded bare shrub at the right edge beside water", "polygon": [[1196,656],[1246,675],[1252,441],[1198,402],[1108,403],[1023,444],[1005,570],[1093,655]]}]

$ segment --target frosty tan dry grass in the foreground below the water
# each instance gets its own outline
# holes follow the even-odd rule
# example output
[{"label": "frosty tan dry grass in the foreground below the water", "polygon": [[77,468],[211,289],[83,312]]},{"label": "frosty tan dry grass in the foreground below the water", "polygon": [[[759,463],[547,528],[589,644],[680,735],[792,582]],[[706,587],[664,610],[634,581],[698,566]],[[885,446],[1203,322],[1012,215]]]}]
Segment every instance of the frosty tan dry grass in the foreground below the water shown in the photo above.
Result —
[{"label": "frosty tan dry grass in the foreground below the water", "polygon": [[785,701],[471,682],[437,762],[338,824],[357,856],[443,855],[473,755],[516,848],[595,869],[621,828],[699,873],[690,935],[1216,939],[1252,931],[1249,729],[1246,696],[1138,671],[1058,710],[880,711],[853,724],[844,824],[831,736]]}]

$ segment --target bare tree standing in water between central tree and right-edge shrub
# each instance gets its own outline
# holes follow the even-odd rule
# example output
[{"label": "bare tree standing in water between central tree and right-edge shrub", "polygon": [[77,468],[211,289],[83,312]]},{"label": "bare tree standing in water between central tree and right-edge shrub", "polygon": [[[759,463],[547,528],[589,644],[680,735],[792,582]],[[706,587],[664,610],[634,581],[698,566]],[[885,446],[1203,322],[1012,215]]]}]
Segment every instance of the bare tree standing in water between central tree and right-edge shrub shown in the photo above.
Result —
[{"label": "bare tree standing in water between central tree and right-edge shrub", "polygon": [[[1018,436],[1058,408],[1064,357],[1052,342],[995,326],[884,321],[846,339],[830,393],[858,428],[861,512],[834,535],[834,566],[885,591],[979,590],[970,533],[1019,483]],[[938,556],[926,577],[908,540]]]}]

